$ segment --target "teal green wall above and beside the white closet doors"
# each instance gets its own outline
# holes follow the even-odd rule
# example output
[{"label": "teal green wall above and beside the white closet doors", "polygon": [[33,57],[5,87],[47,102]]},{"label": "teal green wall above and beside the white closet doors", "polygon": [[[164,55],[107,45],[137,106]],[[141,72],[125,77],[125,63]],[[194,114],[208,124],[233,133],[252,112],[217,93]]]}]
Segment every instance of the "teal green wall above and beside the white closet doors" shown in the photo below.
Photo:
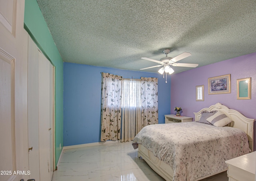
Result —
[{"label": "teal green wall above and beside the white closet doors", "polygon": [[55,157],[57,165],[63,147],[63,61],[36,0],[25,0],[24,28],[46,58],[55,66]]}]

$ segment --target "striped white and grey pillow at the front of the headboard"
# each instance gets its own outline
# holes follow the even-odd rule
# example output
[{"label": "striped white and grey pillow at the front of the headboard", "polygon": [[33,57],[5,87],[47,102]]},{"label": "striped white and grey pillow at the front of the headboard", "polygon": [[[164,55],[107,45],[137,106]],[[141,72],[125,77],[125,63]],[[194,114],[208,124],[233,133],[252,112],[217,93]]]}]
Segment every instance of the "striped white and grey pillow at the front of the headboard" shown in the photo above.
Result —
[{"label": "striped white and grey pillow at the front of the headboard", "polygon": [[214,115],[208,117],[206,121],[212,123],[216,127],[223,127],[232,122],[232,120],[221,111],[217,111]]}]

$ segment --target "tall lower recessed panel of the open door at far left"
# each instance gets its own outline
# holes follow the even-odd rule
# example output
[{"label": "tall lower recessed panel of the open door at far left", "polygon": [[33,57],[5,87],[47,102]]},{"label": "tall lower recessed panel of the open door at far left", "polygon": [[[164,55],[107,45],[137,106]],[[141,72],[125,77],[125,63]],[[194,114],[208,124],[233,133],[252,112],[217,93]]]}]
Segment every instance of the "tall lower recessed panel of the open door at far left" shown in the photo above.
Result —
[{"label": "tall lower recessed panel of the open door at far left", "polygon": [[[0,180],[11,179],[16,170],[14,137],[14,59],[0,50]],[[2,144],[1,144],[2,145]],[[2,175],[3,174],[3,175]]]}]

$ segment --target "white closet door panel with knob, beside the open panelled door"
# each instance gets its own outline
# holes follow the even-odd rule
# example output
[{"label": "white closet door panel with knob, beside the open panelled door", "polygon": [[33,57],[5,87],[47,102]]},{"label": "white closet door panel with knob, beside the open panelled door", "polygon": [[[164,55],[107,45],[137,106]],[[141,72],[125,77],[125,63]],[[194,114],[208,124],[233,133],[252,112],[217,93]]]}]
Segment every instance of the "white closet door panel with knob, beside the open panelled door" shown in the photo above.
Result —
[{"label": "white closet door panel with knob, beside the open panelled door", "polygon": [[39,51],[28,37],[28,152],[30,179],[40,181],[39,167]]}]

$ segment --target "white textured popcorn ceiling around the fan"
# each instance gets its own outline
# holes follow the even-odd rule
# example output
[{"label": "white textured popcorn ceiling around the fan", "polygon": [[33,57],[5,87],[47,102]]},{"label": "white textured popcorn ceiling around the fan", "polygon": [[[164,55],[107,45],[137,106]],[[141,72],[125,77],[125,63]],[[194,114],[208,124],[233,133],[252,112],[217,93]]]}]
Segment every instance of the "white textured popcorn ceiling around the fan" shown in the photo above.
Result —
[{"label": "white textured popcorn ceiling around the fan", "polygon": [[256,0],[37,2],[64,62],[139,70],[159,65],[141,57],[160,60],[165,48],[199,66],[256,52]]}]

